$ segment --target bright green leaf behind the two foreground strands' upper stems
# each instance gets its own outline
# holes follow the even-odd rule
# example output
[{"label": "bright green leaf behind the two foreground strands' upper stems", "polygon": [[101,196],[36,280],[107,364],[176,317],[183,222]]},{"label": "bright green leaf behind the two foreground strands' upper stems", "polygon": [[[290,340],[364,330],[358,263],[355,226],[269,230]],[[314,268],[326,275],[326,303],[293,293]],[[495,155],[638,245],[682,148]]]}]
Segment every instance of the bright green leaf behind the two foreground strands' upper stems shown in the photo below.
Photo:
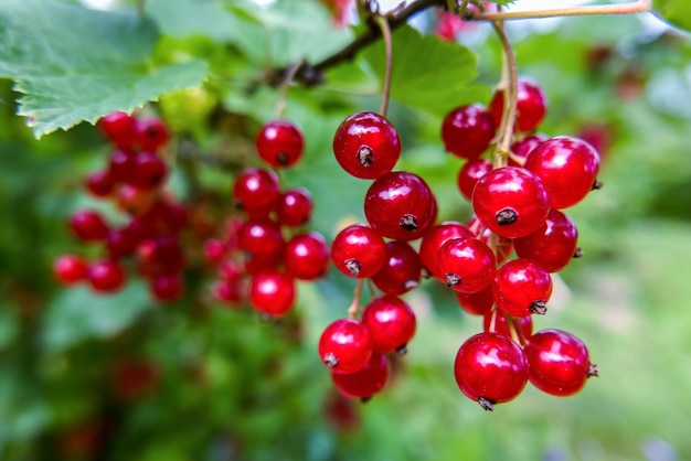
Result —
[{"label": "bright green leaf behind the two foreground strands' upper stems", "polygon": [[[363,53],[380,82],[385,74],[384,44]],[[393,34],[391,97],[411,107],[443,117],[454,107],[487,99],[489,89],[471,85],[477,77],[477,58],[467,47],[422,35],[406,25]]]}]

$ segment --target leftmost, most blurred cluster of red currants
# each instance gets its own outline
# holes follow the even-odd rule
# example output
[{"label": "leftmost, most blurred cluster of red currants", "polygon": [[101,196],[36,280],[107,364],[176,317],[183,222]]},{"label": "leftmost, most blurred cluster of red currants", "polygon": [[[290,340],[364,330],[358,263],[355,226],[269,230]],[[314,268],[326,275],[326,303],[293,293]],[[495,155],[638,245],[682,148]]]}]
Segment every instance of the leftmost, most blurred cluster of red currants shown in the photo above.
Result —
[{"label": "leftmost, most blurred cluster of red currants", "polygon": [[79,240],[100,243],[104,256],[87,261],[78,255],[59,257],[53,266],[64,285],[88,281],[98,292],[123,288],[126,258],[134,257],[138,272],[149,280],[152,296],[171,301],[183,291],[185,258],[179,243],[187,210],[162,189],[168,165],[160,150],[169,139],[158,118],[139,118],[124,112],[105,116],[98,124],[113,144],[106,168],[91,173],[86,190],[109,200],[126,216],[120,225],[109,225],[95,210],[81,210],[70,217],[70,227]]}]

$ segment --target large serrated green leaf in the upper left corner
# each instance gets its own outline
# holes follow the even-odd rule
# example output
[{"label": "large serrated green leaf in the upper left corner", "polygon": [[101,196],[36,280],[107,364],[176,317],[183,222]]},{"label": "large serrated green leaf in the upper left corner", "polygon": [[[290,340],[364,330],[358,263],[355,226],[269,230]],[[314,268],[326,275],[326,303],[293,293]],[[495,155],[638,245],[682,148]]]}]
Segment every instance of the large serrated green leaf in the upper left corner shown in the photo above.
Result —
[{"label": "large serrated green leaf in the upper left corner", "polygon": [[134,13],[56,0],[3,0],[0,77],[15,81],[24,94],[19,114],[41,137],[199,86],[208,73],[202,61],[151,66],[157,37],[153,24]]}]

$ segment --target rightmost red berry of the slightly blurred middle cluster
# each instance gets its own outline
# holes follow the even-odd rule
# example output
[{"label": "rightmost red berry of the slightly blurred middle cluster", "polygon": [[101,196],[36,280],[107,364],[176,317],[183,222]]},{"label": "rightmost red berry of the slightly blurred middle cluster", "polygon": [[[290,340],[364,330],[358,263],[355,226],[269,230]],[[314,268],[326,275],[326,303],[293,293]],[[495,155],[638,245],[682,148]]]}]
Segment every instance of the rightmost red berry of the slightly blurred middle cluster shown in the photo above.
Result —
[{"label": "rightmost red berry of the slightly blurred middle cluster", "polygon": [[296,279],[318,279],[329,266],[329,245],[317,232],[295,235],[286,245],[284,265]]}]

